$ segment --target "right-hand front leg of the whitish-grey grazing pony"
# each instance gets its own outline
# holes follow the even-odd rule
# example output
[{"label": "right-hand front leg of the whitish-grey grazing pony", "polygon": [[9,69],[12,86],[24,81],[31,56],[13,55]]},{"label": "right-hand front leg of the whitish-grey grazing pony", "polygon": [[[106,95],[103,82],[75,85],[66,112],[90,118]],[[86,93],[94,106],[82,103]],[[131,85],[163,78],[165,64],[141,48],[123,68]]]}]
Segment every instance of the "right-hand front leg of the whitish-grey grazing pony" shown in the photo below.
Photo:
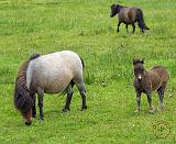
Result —
[{"label": "right-hand front leg of the whitish-grey grazing pony", "polygon": [[40,108],[40,120],[44,120],[44,114],[43,114],[43,96],[44,96],[44,90],[42,88],[37,88],[37,106]]}]

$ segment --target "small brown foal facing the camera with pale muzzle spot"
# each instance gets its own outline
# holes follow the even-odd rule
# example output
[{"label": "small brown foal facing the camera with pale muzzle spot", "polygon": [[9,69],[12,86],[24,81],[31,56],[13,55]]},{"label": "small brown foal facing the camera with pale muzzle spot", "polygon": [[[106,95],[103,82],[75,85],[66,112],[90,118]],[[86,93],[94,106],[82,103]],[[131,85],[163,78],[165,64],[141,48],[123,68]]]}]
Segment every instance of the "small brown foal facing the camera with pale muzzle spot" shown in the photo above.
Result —
[{"label": "small brown foal facing the camera with pale muzzle spot", "polygon": [[155,66],[150,70],[145,70],[143,64],[143,59],[133,59],[135,76],[133,86],[136,91],[136,112],[140,112],[141,93],[144,92],[147,96],[150,113],[154,113],[154,107],[152,106],[152,90],[157,90],[160,98],[158,110],[162,111],[164,91],[169,78],[168,71],[163,66]]}]

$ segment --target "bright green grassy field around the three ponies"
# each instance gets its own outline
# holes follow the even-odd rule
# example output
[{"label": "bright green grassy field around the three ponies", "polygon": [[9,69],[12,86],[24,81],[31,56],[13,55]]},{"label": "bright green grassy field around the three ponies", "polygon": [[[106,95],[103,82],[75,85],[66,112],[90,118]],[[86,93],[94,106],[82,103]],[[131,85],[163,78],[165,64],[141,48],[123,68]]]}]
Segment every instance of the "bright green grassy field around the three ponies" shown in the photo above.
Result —
[{"label": "bright green grassy field around the three ponies", "polygon": [[[143,34],[136,27],[132,34],[122,24],[117,34],[117,19],[110,18],[117,2],[140,7],[151,30]],[[176,143],[175,8],[175,0],[0,0],[0,143]],[[85,60],[88,110],[80,111],[77,89],[68,113],[61,111],[65,97],[45,95],[45,121],[37,113],[25,126],[13,107],[19,65],[34,52],[62,49]],[[148,114],[143,95],[142,111],[134,113],[132,58],[145,58],[146,69],[168,69],[164,112]],[[153,101],[157,108],[155,92]],[[165,139],[155,136],[158,121],[169,124]]]}]

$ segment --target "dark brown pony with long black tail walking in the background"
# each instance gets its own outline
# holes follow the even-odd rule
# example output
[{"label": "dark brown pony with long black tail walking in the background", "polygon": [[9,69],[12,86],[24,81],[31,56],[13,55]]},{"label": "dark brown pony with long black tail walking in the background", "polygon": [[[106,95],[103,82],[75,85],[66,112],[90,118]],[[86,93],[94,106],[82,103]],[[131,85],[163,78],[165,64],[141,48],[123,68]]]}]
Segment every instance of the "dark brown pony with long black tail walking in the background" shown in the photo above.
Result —
[{"label": "dark brown pony with long black tail walking in the background", "polygon": [[120,4],[112,4],[111,5],[111,14],[110,16],[113,18],[116,14],[119,15],[119,23],[118,23],[118,30],[121,23],[125,24],[127,32],[128,25],[131,24],[133,26],[133,33],[135,31],[135,22],[139,23],[139,27],[144,33],[144,30],[150,30],[143,19],[143,12],[140,8],[134,7],[123,7]]}]

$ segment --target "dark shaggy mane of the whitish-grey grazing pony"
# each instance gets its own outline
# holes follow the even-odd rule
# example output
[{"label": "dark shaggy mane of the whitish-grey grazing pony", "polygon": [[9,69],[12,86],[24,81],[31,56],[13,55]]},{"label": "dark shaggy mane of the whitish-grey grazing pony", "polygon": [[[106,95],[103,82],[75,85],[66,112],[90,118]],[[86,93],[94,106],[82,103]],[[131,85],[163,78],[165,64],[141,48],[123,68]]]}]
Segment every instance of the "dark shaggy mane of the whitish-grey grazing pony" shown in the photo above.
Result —
[{"label": "dark shaggy mane of the whitish-grey grazing pony", "polygon": [[18,77],[15,79],[14,106],[18,110],[22,112],[22,114],[31,110],[31,108],[34,106],[34,101],[31,97],[31,91],[26,87],[26,70],[30,60],[35,59],[40,54],[32,54],[29,60],[24,62],[20,67]]}]

